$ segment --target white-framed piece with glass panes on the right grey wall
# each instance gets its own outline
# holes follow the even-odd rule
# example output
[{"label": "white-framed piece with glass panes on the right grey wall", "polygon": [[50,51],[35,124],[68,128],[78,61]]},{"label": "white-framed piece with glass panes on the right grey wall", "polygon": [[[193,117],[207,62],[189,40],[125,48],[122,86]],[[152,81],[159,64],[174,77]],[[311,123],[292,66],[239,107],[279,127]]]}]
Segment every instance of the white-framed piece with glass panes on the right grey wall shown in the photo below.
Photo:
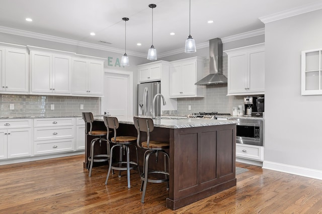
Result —
[{"label": "white-framed piece with glass panes on the right grey wall", "polygon": [[322,94],[322,49],[302,51],[301,94]]}]

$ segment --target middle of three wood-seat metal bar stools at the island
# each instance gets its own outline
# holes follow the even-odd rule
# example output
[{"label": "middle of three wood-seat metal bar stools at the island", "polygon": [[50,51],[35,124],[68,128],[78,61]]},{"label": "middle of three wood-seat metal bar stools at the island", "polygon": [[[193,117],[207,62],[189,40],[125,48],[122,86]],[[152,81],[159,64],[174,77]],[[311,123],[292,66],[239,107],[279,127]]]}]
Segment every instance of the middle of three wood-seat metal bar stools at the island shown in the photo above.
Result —
[{"label": "middle of three wood-seat metal bar stools at the island", "polygon": [[[115,117],[104,117],[104,123],[107,128],[108,134],[107,134],[107,140],[110,143],[114,143],[115,145],[112,146],[111,148],[111,153],[110,153],[110,166],[109,170],[106,175],[106,180],[105,180],[105,185],[107,185],[107,181],[109,179],[109,175],[112,169],[112,173],[114,174],[113,170],[119,170],[119,177],[121,177],[121,171],[127,171],[127,188],[131,188],[131,182],[130,182],[130,170],[134,169],[137,167],[138,172],[140,174],[140,169],[138,166],[138,155],[137,155],[137,147],[135,144],[136,137],[132,136],[117,136],[116,130],[119,128],[119,122],[117,118]],[[109,140],[109,130],[113,129],[114,130],[114,137]],[[130,148],[129,146],[132,145],[135,147],[136,150],[136,162],[130,161]],[[118,162],[112,163],[112,158],[113,158],[113,150],[115,147],[120,148],[120,159]],[[126,150],[126,161],[122,160],[123,154],[122,151]],[[126,164],[126,165],[125,165]]]}]

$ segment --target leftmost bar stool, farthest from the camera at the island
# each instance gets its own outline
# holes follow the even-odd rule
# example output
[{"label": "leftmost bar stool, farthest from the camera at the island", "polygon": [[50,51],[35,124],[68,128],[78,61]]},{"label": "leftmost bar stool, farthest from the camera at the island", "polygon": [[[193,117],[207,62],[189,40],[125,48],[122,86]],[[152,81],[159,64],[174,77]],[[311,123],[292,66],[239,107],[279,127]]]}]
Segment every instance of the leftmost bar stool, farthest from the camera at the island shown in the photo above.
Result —
[{"label": "leftmost bar stool, farthest from the camera at the island", "polygon": [[[87,166],[87,169],[90,170],[89,177],[92,175],[92,168],[93,168],[93,162],[105,162],[110,159],[110,144],[106,140],[107,131],[106,130],[92,130],[93,128],[93,122],[94,117],[92,113],[83,112],[82,113],[83,120],[85,121],[85,133],[96,137],[91,141],[91,149],[90,149],[90,156],[88,157],[88,161],[90,162]],[[90,124],[90,131],[87,133],[87,126]],[[102,145],[102,141],[106,142],[107,147],[107,153],[106,154],[94,154],[94,146],[96,142],[100,143],[100,146]]]}]

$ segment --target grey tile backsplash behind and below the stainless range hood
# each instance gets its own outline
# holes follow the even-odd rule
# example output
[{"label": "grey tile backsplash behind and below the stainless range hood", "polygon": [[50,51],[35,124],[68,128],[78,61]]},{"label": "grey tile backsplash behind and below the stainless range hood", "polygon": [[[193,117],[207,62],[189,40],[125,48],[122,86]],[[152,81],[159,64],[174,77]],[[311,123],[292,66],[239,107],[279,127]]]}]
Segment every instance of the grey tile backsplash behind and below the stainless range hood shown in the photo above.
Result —
[{"label": "grey tile backsplash behind and below the stainless range hood", "polygon": [[[222,73],[227,77],[227,55],[223,56]],[[209,74],[209,59],[204,63],[204,76]],[[232,107],[242,105],[244,96],[227,96],[227,84],[205,86],[204,97],[178,98],[179,115],[189,115],[198,112],[218,112],[232,114]],[[188,110],[191,105],[191,110]]]}]

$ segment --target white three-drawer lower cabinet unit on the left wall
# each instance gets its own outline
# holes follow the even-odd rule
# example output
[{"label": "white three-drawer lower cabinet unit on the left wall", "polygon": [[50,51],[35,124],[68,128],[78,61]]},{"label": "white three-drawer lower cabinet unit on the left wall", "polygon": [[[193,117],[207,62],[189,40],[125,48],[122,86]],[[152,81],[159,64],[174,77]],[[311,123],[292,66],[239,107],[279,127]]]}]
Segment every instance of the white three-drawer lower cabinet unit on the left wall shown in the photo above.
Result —
[{"label": "white three-drawer lower cabinet unit on the left wall", "polygon": [[74,151],[75,119],[34,119],[34,154]]}]

